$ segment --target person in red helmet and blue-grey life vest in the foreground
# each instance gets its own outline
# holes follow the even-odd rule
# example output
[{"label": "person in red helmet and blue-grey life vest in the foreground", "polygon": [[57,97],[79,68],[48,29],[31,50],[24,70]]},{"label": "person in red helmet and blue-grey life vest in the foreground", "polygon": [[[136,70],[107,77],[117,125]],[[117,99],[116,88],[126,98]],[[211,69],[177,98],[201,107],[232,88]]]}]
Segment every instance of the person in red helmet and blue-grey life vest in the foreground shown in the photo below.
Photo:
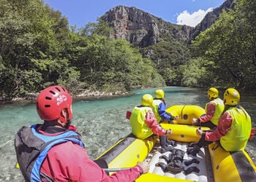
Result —
[{"label": "person in red helmet and blue-grey life vest in the foreground", "polygon": [[107,175],[89,159],[81,135],[71,125],[72,97],[59,85],[37,96],[37,113],[43,124],[18,130],[15,151],[25,181],[135,181],[148,172],[142,162],[113,175]]}]

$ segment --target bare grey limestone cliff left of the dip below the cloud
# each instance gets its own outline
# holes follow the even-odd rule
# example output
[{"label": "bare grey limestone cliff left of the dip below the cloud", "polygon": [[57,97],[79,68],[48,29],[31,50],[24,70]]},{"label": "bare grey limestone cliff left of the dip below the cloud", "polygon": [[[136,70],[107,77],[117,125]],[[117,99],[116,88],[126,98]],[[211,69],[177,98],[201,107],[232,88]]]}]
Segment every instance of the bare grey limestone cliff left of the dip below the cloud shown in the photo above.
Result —
[{"label": "bare grey limestone cliff left of the dip below the cloud", "polygon": [[191,37],[189,26],[167,23],[135,7],[113,7],[101,18],[114,28],[113,39],[126,39],[139,47],[156,44],[166,37],[184,42]]}]

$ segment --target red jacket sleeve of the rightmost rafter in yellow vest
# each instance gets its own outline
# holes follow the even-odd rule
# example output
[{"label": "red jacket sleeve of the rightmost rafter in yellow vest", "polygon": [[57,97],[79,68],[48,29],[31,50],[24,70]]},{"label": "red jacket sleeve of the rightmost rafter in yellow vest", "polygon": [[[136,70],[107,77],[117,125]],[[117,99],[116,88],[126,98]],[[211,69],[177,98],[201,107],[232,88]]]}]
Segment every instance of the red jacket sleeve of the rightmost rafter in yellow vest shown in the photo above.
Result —
[{"label": "red jacket sleeve of the rightmost rafter in yellow vest", "polygon": [[232,116],[225,112],[220,116],[218,126],[213,132],[206,132],[206,141],[218,141],[222,136],[226,135],[232,124]]}]

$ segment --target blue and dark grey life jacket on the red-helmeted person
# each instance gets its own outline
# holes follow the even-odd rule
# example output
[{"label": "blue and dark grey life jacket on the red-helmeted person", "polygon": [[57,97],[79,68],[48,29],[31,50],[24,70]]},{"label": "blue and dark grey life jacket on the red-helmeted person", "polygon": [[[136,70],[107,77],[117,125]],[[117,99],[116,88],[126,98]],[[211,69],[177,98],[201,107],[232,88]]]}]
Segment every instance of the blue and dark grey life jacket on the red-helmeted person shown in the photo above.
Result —
[{"label": "blue and dark grey life jacket on the red-helmeted person", "polygon": [[42,135],[36,128],[40,124],[22,127],[15,135],[15,151],[21,173],[26,181],[41,181],[40,168],[48,151],[59,143],[72,141],[84,148],[80,135],[74,130],[66,130],[60,135]]}]

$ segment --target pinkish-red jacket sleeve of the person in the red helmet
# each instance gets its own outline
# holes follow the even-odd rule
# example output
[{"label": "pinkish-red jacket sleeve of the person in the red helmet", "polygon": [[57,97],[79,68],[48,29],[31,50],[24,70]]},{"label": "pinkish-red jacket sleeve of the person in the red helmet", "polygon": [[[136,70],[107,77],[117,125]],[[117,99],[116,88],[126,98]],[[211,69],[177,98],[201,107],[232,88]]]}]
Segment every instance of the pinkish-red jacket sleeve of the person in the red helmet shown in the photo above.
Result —
[{"label": "pinkish-red jacket sleeve of the person in the red helmet", "polygon": [[50,149],[41,171],[52,176],[54,181],[135,181],[143,169],[132,167],[108,176],[94,161],[89,159],[85,149],[72,143],[61,143]]}]

